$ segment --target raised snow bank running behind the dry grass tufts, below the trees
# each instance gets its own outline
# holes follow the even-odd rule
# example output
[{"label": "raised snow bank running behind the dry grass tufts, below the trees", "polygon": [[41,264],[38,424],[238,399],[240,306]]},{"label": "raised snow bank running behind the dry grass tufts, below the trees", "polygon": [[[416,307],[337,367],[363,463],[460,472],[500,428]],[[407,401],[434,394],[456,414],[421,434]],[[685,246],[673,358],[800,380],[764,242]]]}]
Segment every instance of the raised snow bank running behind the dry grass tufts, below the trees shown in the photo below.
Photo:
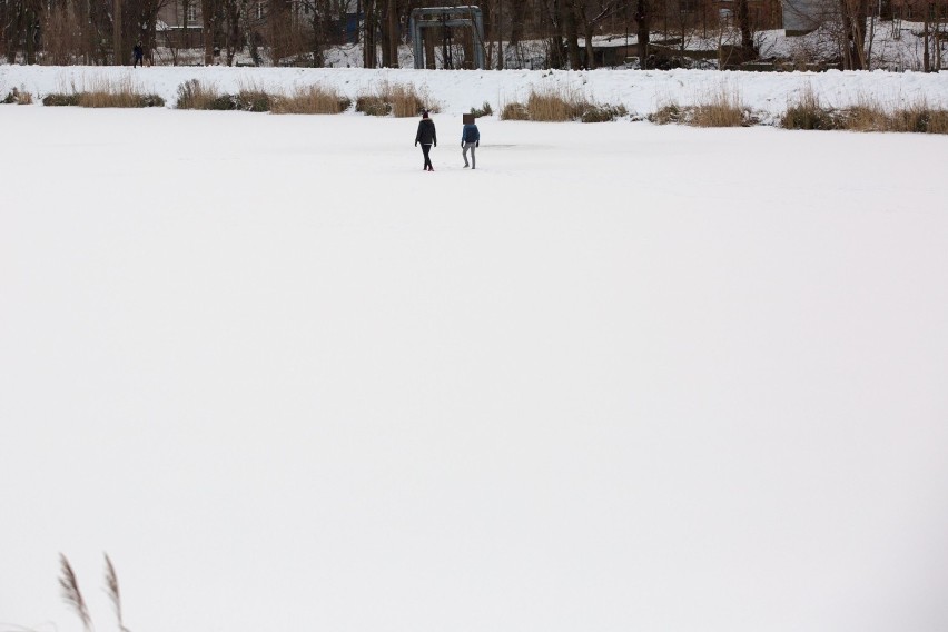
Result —
[{"label": "raised snow bank running behind the dry grass tufts, below the trees", "polygon": [[157,93],[174,107],[178,87],[190,79],[216,85],[224,92],[257,87],[288,91],[295,86],[322,83],[356,98],[383,82],[411,83],[428,95],[445,113],[461,113],[491,103],[500,111],[504,103],[525,101],[532,89],[575,91],[590,100],[623,105],[633,115],[646,116],[663,103],[695,103],[721,90],[740,96],[744,106],[772,121],[794,101],[801,90],[812,88],[828,107],[846,107],[860,100],[882,106],[905,106],[926,101],[948,107],[948,73],[917,72],[714,72],[704,70],[504,70],[445,71],[348,68],[228,68],[154,67],[147,69],[106,67],[0,66],[0,93],[11,88],[34,97],[50,92],[90,89],[103,78],[120,82],[130,79],[144,92]]}]

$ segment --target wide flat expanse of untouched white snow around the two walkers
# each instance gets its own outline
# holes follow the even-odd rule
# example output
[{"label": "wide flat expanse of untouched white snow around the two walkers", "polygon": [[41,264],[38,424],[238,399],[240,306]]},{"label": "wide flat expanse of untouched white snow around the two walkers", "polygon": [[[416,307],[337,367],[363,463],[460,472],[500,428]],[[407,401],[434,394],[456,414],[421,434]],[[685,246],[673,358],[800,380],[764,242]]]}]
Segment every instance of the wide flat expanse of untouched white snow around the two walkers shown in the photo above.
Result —
[{"label": "wide flat expanse of untouched white snow around the two walkers", "polygon": [[103,552],[132,632],[948,629],[948,138],[485,118],[471,171],[436,76],[433,174],[0,106],[0,631],[81,631],[60,552],[96,632]]}]

